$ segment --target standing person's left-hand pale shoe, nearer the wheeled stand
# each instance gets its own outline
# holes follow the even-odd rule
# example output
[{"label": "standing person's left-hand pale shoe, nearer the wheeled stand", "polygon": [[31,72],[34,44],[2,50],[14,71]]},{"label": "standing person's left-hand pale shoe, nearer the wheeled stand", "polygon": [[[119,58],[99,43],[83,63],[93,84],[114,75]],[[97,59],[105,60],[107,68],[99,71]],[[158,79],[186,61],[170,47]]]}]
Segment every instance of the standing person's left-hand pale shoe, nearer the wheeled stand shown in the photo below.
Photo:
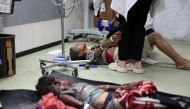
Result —
[{"label": "standing person's left-hand pale shoe, nearer the wheeled stand", "polygon": [[122,68],[122,67],[119,67],[117,65],[117,61],[114,62],[114,63],[109,64],[108,69],[113,70],[113,71],[118,71],[118,72],[121,72],[121,73],[127,72],[127,68]]}]

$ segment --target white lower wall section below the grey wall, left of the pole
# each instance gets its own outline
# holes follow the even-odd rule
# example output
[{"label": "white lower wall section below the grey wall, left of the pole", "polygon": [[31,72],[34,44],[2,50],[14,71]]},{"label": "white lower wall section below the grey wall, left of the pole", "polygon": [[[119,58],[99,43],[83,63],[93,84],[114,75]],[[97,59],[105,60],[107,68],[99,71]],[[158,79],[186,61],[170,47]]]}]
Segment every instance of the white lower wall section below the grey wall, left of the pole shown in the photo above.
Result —
[{"label": "white lower wall section below the grey wall, left of the pole", "polygon": [[15,34],[16,53],[61,40],[60,19],[42,21],[4,28]]}]

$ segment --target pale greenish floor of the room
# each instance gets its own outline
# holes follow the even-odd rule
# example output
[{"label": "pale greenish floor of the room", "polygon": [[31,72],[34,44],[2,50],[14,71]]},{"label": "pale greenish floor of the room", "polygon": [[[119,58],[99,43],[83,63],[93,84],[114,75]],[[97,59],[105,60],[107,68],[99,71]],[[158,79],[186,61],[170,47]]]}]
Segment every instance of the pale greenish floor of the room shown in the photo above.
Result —
[{"label": "pale greenish floor of the room", "polygon": [[[68,53],[67,51],[70,46],[75,43],[77,42],[65,44],[66,54]],[[170,41],[170,43],[179,54],[190,60],[190,43],[184,43],[183,41]],[[87,44],[94,45],[93,43]],[[17,58],[16,75],[0,79],[0,89],[35,90],[35,84],[38,78],[42,76],[39,59],[51,60],[55,55],[48,53],[55,50],[59,52],[59,50],[61,50],[61,45]],[[155,51],[157,54],[155,59],[160,63],[155,65],[144,64],[144,74],[134,74],[132,72],[117,73],[108,70],[107,66],[98,66],[98,68],[91,68],[90,70],[79,68],[79,77],[120,84],[139,80],[152,80],[155,82],[159,91],[190,96],[190,71],[175,69],[174,62],[171,59],[161,53],[158,49]],[[64,72],[71,74],[71,70]]]}]

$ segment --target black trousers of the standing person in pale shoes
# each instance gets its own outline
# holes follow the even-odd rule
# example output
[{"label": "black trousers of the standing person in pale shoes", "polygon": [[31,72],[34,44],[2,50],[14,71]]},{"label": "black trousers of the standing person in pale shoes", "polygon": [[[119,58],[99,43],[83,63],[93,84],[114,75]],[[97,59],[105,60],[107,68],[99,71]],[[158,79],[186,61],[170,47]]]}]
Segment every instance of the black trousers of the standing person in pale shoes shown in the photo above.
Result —
[{"label": "black trousers of the standing person in pale shoes", "polygon": [[147,15],[152,0],[138,0],[129,10],[127,22],[120,25],[123,36],[118,43],[119,60],[141,60]]}]

